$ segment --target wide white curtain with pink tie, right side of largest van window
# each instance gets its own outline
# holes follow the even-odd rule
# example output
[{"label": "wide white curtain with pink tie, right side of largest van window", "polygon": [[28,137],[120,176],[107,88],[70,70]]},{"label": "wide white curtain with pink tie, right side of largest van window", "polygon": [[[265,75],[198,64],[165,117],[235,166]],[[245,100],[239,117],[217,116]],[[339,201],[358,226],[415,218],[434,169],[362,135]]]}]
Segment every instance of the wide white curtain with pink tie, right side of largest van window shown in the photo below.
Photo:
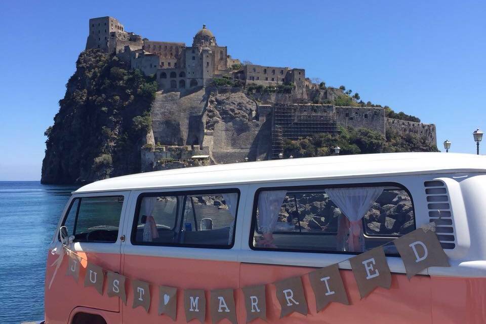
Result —
[{"label": "wide white curtain with pink tie, right side of largest van window", "polygon": [[350,252],[364,251],[365,241],[361,219],[370,210],[382,192],[383,187],[326,189],[329,198],[349,220],[348,247]]}]

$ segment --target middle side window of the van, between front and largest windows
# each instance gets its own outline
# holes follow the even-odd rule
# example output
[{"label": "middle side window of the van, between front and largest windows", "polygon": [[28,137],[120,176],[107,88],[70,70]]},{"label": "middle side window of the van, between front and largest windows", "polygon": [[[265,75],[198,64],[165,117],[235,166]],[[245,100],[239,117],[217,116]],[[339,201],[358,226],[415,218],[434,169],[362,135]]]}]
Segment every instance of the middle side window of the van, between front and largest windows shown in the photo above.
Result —
[{"label": "middle side window of the van, between front and largest windows", "polygon": [[239,192],[142,194],[132,244],[229,249]]}]

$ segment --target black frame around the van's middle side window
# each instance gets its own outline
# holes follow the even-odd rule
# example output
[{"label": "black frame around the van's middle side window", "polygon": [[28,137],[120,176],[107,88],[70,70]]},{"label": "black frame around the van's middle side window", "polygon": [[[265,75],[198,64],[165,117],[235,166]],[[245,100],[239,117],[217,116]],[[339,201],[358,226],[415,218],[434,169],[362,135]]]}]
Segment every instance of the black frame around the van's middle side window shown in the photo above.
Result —
[{"label": "black frame around the van's middle side window", "polygon": [[[223,194],[223,193],[236,193],[238,199],[236,200],[236,213],[234,216],[233,233],[231,245],[210,245],[210,244],[184,244],[184,243],[164,243],[164,242],[138,242],[136,238],[137,224],[140,214],[140,208],[142,199],[144,197],[163,197],[163,196],[184,196],[181,208],[177,207],[178,215],[177,219],[182,217],[182,214],[186,208],[186,200],[188,196],[191,195],[210,195],[210,194]],[[208,189],[208,190],[182,190],[182,191],[159,191],[159,192],[142,192],[137,197],[137,203],[135,205],[135,214],[133,215],[132,229],[130,232],[130,242],[133,246],[149,246],[149,247],[177,247],[177,248],[198,248],[198,249],[220,249],[220,250],[230,250],[234,246],[234,241],[236,237],[236,221],[238,219],[238,209],[239,200],[241,197],[241,191],[238,188],[223,188],[223,189]],[[194,214],[195,215],[195,214]],[[197,227],[197,224],[196,224]]]}]

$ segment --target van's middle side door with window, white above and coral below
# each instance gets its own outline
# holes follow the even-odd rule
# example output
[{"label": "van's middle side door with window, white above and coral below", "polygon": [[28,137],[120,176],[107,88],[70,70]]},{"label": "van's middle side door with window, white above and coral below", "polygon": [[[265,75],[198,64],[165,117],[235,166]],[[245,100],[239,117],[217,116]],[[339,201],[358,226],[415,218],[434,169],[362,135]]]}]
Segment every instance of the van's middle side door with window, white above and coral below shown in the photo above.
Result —
[{"label": "van's middle side door with window, white above and coral below", "polygon": [[[158,286],[178,289],[177,323],[186,322],[184,289],[205,290],[208,305],[210,290],[239,287],[237,229],[244,210],[238,201],[244,197],[241,186],[133,191],[131,220],[127,219],[127,239],[122,244],[122,274],[148,282],[151,297],[148,313],[133,308],[133,287],[128,288],[127,305],[121,305],[123,322],[172,322],[167,315],[158,315]],[[206,311],[208,323],[209,307]]]}]

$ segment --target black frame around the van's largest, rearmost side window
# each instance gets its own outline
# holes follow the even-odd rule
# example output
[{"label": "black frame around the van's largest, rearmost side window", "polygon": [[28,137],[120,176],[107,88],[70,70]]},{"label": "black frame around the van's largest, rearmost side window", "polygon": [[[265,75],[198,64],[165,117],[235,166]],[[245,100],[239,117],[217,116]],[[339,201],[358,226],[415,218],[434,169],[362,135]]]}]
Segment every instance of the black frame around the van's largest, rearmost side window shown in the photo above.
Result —
[{"label": "black frame around the van's largest, rearmost side window", "polygon": [[[287,190],[287,191],[293,191],[293,190],[316,190],[316,189],[322,189],[322,191],[326,191],[326,188],[363,188],[363,187],[397,187],[405,192],[410,197],[410,201],[412,203],[412,209],[414,211],[414,230],[417,229],[417,216],[415,212],[415,204],[414,204],[414,198],[412,194],[410,193],[410,190],[402,185],[401,183],[398,182],[360,182],[360,183],[343,183],[343,184],[329,184],[329,185],[298,185],[298,186],[278,186],[278,187],[260,187],[255,191],[255,195],[253,198],[253,209],[252,209],[252,222],[250,226],[250,235],[248,239],[248,246],[250,247],[251,250],[253,251],[274,251],[274,252],[295,252],[295,253],[319,253],[319,254],[344,254],[344,255],[358,255],[363,252],[349,252],[349,251],[317,251],[317,250],[300,250],[300,249],[273,249],[273,248],[259,248],[253,246],[253,241],[254,241],[254,236],[255,232],[258,233],[258,231],[255,230],[256,226],[256,220],[257,220],[257,208],[258,208],[258,197],[260,195],[261,191],[272,191],[272,190]],[[297,208],[297,207],[296,207]],[[315,233],[306,233],[306,232],[286,232],[285,234],[289,235],[315,235]],[[317,235],[331,235],[331,233],[317,233]],[[368,236],[368,237],[392,237],[391,235],[368,235],[366,234],[364,227],[363,227],[363,235]],[[398,238],[400,236],[396,236],[393,238]],[[391,244],[393,240],[390,240],[386,245]],[[386,253],[385,255],[387,257],[399,257],[398,253]]]}]

